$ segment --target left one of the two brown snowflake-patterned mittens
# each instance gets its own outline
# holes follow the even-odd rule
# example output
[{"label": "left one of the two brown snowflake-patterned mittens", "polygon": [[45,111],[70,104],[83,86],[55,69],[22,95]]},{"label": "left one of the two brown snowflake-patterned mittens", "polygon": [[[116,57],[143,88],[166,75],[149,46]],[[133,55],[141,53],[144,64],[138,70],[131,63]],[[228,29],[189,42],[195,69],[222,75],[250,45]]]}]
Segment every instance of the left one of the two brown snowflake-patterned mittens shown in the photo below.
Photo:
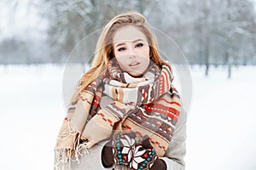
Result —
[{"label": "left one of the two brown snowflake-patterned mittens", "polygon": [[117,133],[102,148],[103,167],[112,167],[114,163],[129,165],[135,147],[135,133]]}]

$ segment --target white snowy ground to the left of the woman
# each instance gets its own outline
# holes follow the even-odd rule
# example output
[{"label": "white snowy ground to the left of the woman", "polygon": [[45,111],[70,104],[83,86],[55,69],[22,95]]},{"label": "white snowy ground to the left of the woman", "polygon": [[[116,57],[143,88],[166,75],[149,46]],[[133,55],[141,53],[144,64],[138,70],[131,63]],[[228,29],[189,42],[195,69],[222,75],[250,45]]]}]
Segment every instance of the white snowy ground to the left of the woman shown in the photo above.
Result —
[{"label": "white snowy ground to the left of the woman", "polygon": [[62,68],[0,67],[1,169],[53,169],[53,149],[64,107]]}]

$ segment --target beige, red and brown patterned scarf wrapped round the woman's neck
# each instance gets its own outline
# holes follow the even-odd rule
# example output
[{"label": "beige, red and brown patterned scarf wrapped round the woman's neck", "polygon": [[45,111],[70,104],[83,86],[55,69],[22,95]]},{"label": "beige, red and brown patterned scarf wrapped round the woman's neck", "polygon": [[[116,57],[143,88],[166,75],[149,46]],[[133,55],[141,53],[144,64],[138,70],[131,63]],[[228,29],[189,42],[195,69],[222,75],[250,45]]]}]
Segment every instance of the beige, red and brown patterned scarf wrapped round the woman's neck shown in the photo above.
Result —
[{"label": "beige, red and brown patterned scarf wrapped round the woman's neck", "polygon": [[148,135],[157,155],[164,156],[180,110],[172,80],[169,64],[152,62],[143,77],[131,77],[116,59],[109,61],[107,71],[69,105],[55,145],[55,169],[68,168],[82,150],[120,131],[135,132],[136,140]]}]

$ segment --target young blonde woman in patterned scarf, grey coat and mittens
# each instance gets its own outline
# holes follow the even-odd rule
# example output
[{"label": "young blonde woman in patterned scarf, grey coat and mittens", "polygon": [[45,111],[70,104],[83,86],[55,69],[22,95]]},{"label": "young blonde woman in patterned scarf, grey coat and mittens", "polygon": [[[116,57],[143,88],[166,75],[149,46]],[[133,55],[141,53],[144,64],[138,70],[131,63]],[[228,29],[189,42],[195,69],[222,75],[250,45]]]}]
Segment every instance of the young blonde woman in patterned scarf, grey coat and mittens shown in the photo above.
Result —
[{"label": "young blonde woman in patterned scarf, grey coat and mittens", "polygon": [[55,145],[55,169],[184,169],[185,114],[142,14],[110,20]]}]

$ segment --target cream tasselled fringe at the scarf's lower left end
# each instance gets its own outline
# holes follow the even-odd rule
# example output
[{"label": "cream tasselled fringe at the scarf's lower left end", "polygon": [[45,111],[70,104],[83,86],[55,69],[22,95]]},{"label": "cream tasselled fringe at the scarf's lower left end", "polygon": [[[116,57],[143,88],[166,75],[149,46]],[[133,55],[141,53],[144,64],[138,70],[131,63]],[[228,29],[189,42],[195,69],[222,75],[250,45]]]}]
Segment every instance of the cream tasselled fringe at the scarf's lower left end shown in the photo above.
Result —
[{"label": "cream tasselled fringe at the scarf's lower left end", "polygon": [[84,156],[84,154],[89,154],[86,142],[80,144],[80,133],[76,132],[71,122],[68,121],[68,128],[58,136],[58,140],[65,140],[70,136],[73,137],[73,149],[55,149],[55,170],[71,170],[71,161],[79,163],[80,157]]}]

